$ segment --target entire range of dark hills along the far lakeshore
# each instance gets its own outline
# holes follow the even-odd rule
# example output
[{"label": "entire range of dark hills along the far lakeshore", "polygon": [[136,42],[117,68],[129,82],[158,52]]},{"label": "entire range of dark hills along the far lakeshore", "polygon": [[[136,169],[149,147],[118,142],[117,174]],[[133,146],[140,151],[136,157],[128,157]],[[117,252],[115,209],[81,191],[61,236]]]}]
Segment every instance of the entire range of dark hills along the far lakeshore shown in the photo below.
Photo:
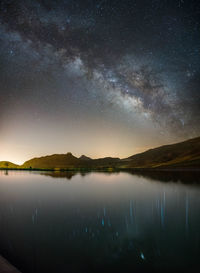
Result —
[{"label": "entire range of dark hills along the far lakeshore", "polygon": [[25,169],[138,169],[138,168],[199,168],[200,169],[200,137],[184,142],[165,145],[120,160],[105,157],[91,159],[85,155],[77,158],[71,153],[54,154],[33,158],[18,166],[11,162],[0,162],[0,168]]}]

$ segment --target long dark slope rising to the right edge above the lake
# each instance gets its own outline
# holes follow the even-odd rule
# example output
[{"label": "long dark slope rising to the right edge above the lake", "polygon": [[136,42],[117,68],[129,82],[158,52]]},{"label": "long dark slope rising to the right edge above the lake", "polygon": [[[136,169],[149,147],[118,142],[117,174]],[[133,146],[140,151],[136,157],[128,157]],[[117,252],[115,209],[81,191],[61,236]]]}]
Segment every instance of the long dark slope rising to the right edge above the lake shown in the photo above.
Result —
[{"label": "long dark slope rising to the right edge above the lake", "polygon": [[150,149],[123,160],[128,168],[200,168],[200,137]]}]

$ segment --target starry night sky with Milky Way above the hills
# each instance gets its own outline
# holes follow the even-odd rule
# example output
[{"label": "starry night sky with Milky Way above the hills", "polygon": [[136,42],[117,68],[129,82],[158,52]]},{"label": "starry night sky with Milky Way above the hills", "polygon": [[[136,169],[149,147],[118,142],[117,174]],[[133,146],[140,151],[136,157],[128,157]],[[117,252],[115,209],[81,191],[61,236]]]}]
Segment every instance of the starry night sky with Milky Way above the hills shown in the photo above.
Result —
[{"label": "starry night sky with Milky Way above the hills", "polygon": [[200,135],[200,1],[0,2],[0,160]]}]

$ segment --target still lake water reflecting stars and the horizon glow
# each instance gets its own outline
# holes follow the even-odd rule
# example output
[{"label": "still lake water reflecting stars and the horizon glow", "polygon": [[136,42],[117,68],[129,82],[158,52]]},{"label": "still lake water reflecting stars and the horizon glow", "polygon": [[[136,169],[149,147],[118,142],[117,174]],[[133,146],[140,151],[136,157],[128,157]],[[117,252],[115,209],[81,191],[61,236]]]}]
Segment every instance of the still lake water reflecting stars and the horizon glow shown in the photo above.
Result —
[{"label": "still lake water reflecting stars and the horizon glow", "polygon": [[0,254],[23,273],[200,272],[198,180],[1,171]]}]

